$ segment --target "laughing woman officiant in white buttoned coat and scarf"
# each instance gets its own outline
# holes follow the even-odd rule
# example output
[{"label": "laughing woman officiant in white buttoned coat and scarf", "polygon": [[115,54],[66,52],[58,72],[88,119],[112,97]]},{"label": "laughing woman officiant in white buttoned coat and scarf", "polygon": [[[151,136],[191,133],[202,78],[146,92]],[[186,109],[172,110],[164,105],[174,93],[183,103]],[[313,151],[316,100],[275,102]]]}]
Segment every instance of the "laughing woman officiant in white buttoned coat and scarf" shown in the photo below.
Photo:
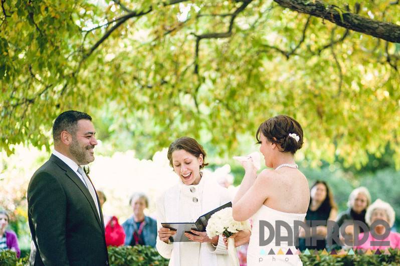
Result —
[{"label": "laughing woman officiant in white buttoned coat and scarf", "polygon": [[156,248],[169,265],[230,265],[224,239],[209,238],[206,232],[185,233],[189,242],[169,241],[175,232],[161,227],[161,222],[187,222],[230,201],[228,190],[203,174],[206,151],[195,139],[180,137],[168,148],[169,164],[179,177],[157,200],[158,237]]}]

